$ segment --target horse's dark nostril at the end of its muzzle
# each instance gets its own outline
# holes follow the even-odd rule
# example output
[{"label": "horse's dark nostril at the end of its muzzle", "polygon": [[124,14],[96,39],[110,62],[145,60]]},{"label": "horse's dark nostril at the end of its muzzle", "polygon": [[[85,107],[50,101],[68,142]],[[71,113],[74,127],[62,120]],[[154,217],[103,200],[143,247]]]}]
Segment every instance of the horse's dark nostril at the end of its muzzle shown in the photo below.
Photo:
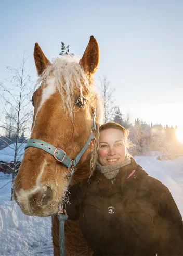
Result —
[{"label": "horse's dark nostril at the end of its muzzle", "polygon": [[48,204],[49,200],[53,197],[53,192],[50,187],[43,186],[37,193],[31,196],[30,206],[33,211],[37,211],[38,208],[42,208]]}]

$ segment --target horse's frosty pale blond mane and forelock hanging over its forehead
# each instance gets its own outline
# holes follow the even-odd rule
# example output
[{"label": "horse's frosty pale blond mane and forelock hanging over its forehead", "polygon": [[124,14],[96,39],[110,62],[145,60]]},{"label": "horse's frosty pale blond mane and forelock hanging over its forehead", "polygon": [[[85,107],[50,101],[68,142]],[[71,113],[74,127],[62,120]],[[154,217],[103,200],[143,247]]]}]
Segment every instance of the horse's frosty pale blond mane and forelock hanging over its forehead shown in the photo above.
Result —
[{"label": "horse's frosty pale blond mane and forelock hanging over its forehead", "polygon": [[[54,78],[54,84],[59,91],[63,101],[63,108],[69,113],[71,119],[74,115],[75,90],[79,90],[80,97],[86,98],[87,111],[89,115],[90,105],[96,108],[97,117],[97,131],[96,131],[96,143],[91,154],[90,170],[94,170],[97,161],[97,148],[98,148],[98,135],[99,127],[102,123],[103,108],[99,94],[94,90],[95,80],[87,75],[81,65],[79,64],[79,58],[75,56],[62,56],[61,58],[55,58],[53,63],[47,66],[42,75],[38,78],[37,83],[46,82],[50,78]],[[86,116],[87,118],[87,116]]]}]

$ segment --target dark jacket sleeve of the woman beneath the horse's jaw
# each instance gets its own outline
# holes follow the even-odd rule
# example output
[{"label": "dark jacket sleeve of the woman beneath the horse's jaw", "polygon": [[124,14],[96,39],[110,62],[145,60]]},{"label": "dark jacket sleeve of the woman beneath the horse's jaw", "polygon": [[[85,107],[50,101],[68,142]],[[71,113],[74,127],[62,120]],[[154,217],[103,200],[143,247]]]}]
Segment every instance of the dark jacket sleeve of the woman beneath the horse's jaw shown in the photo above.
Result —
[{"label": "dark jacket sleeve of the woman beneath the horse's jaw", "polygon": [[84,197],[86,187],[83,182],[74,184],[67,192],[67,199],[63,204],[69,220],[77,220],[80,217],[80,205]]}]

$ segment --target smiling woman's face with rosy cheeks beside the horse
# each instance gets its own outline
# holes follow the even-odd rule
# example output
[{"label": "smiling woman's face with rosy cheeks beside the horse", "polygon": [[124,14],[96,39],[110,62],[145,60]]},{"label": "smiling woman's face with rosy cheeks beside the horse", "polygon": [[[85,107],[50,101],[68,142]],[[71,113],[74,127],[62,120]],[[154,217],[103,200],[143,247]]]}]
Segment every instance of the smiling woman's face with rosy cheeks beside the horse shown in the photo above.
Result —
[{"label": "smiling woman's face with rosy cheeks beside the horse", "polygon": [[107,129],[100,132],[98,160],[101,165],[114,165],[124,161],[126,147],[123,132],[118,129]]}]

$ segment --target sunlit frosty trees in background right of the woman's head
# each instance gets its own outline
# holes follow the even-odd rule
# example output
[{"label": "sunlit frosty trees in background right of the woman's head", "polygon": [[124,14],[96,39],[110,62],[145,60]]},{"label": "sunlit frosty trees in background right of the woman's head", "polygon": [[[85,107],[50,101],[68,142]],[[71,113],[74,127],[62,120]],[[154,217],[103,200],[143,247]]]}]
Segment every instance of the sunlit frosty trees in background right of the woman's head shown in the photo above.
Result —
[{"label": "sunlit frosty trees in background right of the woman's head", "polygon": [[183,144],[176,138],[177,127],[148,125],[139,118],[135,119],[134,124],[129,123],[129,118],[123,118],[119,107],[116,107],[113,120],[129,129],[129,140],[135,145],[129,149],[132,155],[149,155],[151,151],[156,151],[159,159],[166,160],[173,159],[176,154],[183,154]]}]

